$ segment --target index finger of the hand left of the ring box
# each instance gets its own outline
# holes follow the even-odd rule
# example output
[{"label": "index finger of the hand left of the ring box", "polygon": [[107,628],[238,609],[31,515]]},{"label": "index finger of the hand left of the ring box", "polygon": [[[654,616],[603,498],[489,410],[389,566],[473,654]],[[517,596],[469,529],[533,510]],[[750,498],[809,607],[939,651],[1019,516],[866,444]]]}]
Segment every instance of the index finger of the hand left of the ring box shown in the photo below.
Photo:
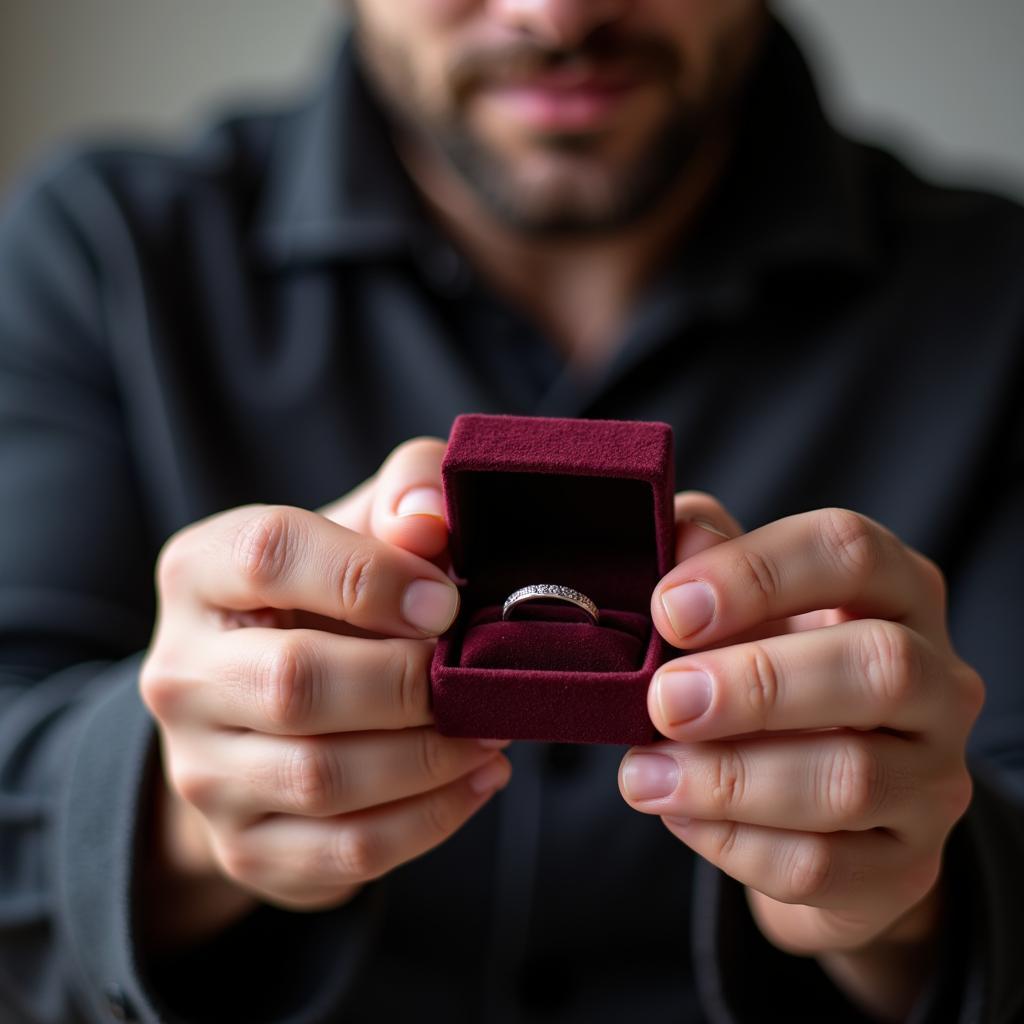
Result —
[{"label": "index finger of the hand left of the ring box", "polygon": [[243,506],[195,524],[161,553],[161,593],[208,608],[300,608],[385,636],[443,633],[455,584],[431,562],[306,509]]}]

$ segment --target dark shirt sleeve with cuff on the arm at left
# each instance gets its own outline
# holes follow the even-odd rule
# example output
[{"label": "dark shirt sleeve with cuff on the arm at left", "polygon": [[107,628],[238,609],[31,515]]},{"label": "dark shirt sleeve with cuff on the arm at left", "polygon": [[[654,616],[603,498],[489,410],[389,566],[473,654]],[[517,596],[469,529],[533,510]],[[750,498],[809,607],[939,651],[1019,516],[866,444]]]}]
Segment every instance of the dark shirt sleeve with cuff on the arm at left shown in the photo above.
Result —
[{"label": "dark shirt sleeve with cuff on the arm at left", "polygon": [[[262,907],[159,970],[136,942],[156,765],[137,675],[163,539],[123,422],[131,381],[104,349],[129,252],[104,249],[124,232],[116,209],[75,158],[0,218],[0,1019],[327,1020],[373,892],[323,913]],[[221,987],[204,988],[211,973]]]}]

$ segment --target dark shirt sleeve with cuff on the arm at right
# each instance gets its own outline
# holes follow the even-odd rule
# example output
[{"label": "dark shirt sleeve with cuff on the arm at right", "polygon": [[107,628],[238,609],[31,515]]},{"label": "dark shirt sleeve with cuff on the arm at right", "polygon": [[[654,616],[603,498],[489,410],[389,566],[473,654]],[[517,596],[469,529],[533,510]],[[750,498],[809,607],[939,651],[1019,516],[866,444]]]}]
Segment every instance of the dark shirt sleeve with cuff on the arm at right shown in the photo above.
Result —
[{"label": "dark shirt sleeve with cuff on the arm at right", "polygon": [[[1019,367],[1007,372],[1020,382]],[[943,857],[936,969],[908,1024],[1024,1020],[1024,386],[1008,393],[1014,406],[972,484],[976,514],[943,565],[953,645],[981,673],[986,702],[968,748],[974,797]],[[707,862],[697,883],[696,977],[716,1022],[762,1021],[769,1010],[786,1020],[870,1020],[813,958],[781,953],[762,937],[740,885]]]}]

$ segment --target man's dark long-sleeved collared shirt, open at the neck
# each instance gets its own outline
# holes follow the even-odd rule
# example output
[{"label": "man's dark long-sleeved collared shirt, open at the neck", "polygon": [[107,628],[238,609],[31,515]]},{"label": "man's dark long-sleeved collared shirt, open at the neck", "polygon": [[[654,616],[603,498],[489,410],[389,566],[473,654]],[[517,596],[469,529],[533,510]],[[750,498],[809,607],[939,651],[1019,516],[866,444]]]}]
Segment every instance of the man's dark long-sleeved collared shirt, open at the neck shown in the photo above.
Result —
[{"label": "man's dark long-sleeved collared shirt, open at the neck", "polygon": [[[936,559],[984,676],[914,1020],[1020,1019],[1024,212],[837,133],[777,30],[693,233],[588,374],[431,224],[347,43],[297,109],[79,147],[0,224],[0,1019],[861,1020],[742,888],[629,808],[624,748],[514,743],[450,841],[317,913],[139,948],[153,569],[316,508],[463,412],[664,420],[746,527],[823,506]],[[1017,1015],[1017,1016],[1015,1016]]]}]

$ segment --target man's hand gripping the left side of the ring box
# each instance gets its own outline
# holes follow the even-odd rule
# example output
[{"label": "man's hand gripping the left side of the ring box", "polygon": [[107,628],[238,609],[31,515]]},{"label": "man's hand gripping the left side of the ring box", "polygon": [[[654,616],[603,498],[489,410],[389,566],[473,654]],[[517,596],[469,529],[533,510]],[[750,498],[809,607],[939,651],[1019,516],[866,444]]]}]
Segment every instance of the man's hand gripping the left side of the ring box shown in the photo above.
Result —
[{"label": "man's hand gripping the left side of the ring box", "polygon": [[443,452],[414,438],[331,506],[236,508],[164,546],[139,678],[163,768],[151,951],[259,900],[339,905],[508,782],[507,740],[432,725],[430,659],[459,600],[442,568]]}]

